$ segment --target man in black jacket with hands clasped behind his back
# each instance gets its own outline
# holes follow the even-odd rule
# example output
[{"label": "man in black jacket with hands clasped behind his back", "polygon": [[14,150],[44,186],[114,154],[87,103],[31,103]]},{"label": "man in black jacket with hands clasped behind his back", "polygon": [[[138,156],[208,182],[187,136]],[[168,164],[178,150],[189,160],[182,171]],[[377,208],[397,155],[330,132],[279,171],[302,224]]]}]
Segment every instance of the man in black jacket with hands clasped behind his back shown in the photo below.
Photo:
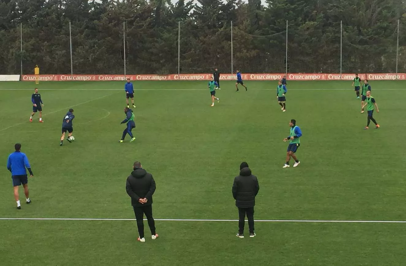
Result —
[{"label": "man in black jacket with hands clasped behind his back", "polygon": [[152,239],[156,239],[158,234],[155,232],[155,221],[152,217],[152,195],[155,192],[155,180],[152,174],[147,173],[139,161],[136,161],[131,174],[127,177],[125,189],[128,196],[131,197],[131,205],[134,209],[137,220],[138,241],[145,242],[144,238],[144,214],[147,216],[149,229],[151,229]]}]

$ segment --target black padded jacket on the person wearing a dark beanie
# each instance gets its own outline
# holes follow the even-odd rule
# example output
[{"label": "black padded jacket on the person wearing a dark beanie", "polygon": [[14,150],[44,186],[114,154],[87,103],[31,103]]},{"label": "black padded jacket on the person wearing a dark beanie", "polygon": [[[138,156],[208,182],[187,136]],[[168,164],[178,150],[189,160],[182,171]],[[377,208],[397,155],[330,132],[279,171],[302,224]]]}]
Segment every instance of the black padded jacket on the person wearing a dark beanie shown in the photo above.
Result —
[{"label": "black padded jacket on the person wearing a dark beanie", "polygon": [[248,167],[242,168],[240,175],[234,178],[233,197],[235,206],[239,208],[251,208],[255,206],[255,196],[259,191],[258,179],[251,174]]}]

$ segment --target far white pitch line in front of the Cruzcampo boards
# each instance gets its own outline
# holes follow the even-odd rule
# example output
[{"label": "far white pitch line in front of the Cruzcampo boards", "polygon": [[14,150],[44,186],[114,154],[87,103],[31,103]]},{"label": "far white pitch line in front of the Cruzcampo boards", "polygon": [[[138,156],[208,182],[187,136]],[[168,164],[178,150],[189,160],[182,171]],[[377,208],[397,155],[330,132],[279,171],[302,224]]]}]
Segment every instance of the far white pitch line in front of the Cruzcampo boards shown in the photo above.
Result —
[{"label": "far white pitch line in front of the Cruzcampo boards", "polygon": [[[32,91],[32,89],[0,89],[2,91]],[[256,89],[257,91],[274,91],[274,89]],[[302,91],[354,91],[354,89],[289,89]],[[406,90],[406,89],[375,89],[375,90]],[[41,89],[41,91],[122,91],[122,89]],[[207,91],[207,89],[134,89],[134,91]]]}]

